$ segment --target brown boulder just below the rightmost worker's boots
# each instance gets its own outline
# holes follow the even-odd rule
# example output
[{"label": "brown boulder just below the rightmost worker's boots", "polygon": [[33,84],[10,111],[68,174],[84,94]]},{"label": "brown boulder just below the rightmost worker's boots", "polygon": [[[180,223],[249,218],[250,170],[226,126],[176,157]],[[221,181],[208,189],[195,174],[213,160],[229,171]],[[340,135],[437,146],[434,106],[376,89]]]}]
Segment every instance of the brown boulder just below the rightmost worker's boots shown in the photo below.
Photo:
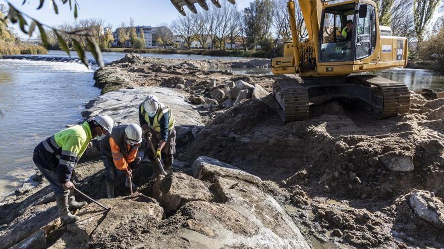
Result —
[{"label": "brown boulder just below the rightmost worker's boots", "polygon": [[158,177],[152,191],[152,197],[159,201],[166,213],[178,210],[187,202],[211,200],[211,194],[202,181],[183,173]]}]

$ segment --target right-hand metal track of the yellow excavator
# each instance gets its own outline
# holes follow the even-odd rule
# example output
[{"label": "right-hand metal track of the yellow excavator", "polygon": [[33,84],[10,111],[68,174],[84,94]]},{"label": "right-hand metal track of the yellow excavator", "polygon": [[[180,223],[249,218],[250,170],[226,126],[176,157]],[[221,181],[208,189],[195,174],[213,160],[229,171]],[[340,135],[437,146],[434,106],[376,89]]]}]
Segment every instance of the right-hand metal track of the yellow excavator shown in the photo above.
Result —
[{"label": "right-hand metal track of the yellow excavator", "polygon": [[409,113],[410,92],[403,83],[371,74],[353,75],[349,76],[349,79],[355,84],[378,88],[383,98],[381,107],[382,118]]}]

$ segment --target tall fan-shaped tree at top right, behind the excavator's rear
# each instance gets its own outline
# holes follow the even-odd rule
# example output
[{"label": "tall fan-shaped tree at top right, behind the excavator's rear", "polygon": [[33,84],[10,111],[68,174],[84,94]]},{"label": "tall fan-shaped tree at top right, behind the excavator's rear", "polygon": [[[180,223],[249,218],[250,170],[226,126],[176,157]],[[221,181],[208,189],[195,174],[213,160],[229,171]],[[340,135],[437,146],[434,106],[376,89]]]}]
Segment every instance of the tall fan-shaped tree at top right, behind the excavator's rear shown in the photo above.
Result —
[{"label": "tall fan-shaped tree at top right, behind the excavator's rear", "polygon": [[413,0],[413,19],[416,39],[424,39],[425,29],[433,17],[440,0]]}]

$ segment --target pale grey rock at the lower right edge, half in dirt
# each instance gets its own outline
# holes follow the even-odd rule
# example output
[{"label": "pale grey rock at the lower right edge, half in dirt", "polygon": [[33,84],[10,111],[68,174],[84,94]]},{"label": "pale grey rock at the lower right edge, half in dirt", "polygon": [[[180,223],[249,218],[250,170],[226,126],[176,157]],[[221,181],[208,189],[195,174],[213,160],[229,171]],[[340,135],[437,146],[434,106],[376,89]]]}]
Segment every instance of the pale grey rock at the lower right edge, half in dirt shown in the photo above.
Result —
[{"label": "pale grey rock at the lower right edge, half in dirt", "polygon": [[432,226],[444,229],[444,203],[428,191],[416,191],[409,198],[413,212]]}]

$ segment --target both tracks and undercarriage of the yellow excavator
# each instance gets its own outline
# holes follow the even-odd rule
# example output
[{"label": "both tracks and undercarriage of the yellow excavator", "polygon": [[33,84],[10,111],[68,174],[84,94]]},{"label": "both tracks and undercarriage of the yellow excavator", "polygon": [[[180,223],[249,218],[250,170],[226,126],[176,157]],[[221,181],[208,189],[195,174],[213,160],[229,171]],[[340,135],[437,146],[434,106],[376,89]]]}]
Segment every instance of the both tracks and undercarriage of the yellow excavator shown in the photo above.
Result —
[{"label": "both tracks and undercarriage of the yellow excavator", "polygon": [[407,114],[410,109],[406,85],[371,74],[304,80],[303,85],[296,78],[278,79],[273,95],[281,106],[278,112],[284,122],[308,119],[309,103],[315,103],[319,97],[359,99],[380,118]]}]

